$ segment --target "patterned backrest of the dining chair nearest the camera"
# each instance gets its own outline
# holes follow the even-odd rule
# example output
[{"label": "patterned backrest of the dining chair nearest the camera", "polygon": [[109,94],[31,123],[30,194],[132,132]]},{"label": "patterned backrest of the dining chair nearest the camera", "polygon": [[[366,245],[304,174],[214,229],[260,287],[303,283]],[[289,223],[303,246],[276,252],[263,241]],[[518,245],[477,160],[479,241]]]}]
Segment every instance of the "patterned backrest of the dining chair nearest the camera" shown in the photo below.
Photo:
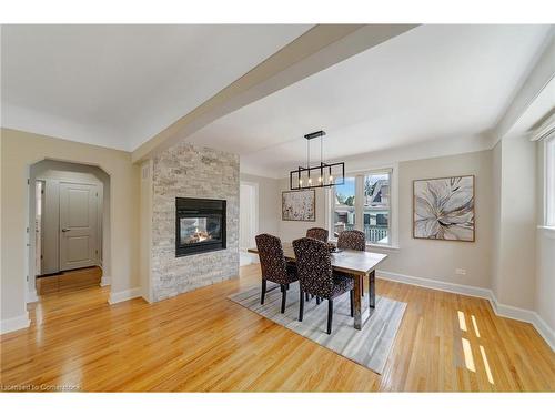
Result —
[{"label": "patterned backrest of the dining chair nearest the camera", "polygon": [[293,242],[301,291],[330,297],[333,291],[332,257],[327,244],[310,237]]}]

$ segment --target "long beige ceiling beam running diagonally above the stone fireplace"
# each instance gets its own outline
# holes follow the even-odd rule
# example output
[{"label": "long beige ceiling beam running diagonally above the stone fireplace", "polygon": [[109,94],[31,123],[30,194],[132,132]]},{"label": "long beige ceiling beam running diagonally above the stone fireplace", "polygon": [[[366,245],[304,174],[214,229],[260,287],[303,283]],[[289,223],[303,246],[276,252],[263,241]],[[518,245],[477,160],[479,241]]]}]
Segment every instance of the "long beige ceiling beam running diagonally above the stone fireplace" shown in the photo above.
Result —
[{"label": "long beige ceiling beam running diagonally above the stone fireplace", "polygon": [[[417,24],[316,24],[190,113],[141,144],[140,162],[212,121],[383,43]],[[224,65],[225,62],[222,62]]]}]

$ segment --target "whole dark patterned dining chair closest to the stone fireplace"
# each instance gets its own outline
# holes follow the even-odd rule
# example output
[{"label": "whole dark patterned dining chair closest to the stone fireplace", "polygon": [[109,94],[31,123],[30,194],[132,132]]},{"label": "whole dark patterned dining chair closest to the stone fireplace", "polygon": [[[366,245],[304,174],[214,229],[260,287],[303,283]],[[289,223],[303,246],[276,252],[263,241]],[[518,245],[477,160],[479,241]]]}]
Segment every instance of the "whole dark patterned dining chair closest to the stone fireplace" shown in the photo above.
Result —
[{"label": "whole dark patterned dining chair closest to the stone fireplace", "polygon": [[283,255],[281,240],[274,235],[260,234],[255,236],[259,250],[260,266],[262,268],[262,294],[260,304],[264,304],[266,282],[278,283],[281,288],[281,313],[285,312],[285,302],[290,283],[299,280],[296,267],[287,264]]}]

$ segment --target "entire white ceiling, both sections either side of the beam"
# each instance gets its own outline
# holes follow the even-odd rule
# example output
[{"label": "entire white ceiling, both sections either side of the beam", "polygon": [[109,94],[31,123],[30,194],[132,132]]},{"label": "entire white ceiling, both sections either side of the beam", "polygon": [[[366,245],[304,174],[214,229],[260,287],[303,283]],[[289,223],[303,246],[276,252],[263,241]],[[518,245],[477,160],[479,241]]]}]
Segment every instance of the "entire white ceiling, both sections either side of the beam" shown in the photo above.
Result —
[{"label": "entire white ceiling, both sections either side of the beam", "polygon": [[[307,29],[3,26],[2,125],[131,151]],[[320,129],[329,160],[426,142],[475,149],[549,30],[421,26],[186,140],[239,153],[242,171],[275,177],[304,163],[302,136]]]}]

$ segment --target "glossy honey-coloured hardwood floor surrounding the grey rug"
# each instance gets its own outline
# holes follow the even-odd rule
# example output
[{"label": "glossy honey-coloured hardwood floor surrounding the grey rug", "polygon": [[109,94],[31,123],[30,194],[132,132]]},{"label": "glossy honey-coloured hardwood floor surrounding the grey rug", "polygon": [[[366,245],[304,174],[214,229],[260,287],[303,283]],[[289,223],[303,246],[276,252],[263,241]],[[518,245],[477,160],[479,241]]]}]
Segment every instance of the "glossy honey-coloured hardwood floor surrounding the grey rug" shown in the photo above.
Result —
[{"label": "glossy honey-coloured hardwood floor surrounding the grey rug", "polygon": [[555,390],[555,354],[485,300],[376,281],[407,303],[377,375],[226,300],[241,278],[149,305],[110,306],[109,286],[41,296],[30,328],[1,336],[1,384],[81,390]]}]

